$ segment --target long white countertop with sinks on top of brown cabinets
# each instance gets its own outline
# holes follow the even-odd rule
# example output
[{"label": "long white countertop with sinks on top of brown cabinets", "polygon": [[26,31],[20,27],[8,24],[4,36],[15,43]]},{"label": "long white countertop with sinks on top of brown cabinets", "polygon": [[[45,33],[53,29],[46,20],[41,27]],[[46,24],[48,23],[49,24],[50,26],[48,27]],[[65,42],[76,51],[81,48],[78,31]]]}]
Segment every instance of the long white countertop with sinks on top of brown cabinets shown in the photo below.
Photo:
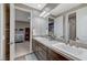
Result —
[{"label": "long white countertop with sinks on top of brown cabinets", "polygon": [[83,47],[69,46],[63,42],[50,40],[46,37],[33,37],[56,53],[75,61],[87,61],[87,50]]}]

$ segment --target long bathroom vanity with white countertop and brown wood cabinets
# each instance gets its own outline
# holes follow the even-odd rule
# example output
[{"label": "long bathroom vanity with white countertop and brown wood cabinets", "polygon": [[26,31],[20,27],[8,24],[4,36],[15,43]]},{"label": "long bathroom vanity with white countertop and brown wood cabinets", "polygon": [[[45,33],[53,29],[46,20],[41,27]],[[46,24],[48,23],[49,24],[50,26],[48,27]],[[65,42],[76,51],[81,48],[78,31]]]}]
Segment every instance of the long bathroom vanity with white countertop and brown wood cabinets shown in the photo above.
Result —
[{"label": "long bathroom vanity with white countertop and brown wood cabinets", "polygon": [[33,37],[33,52],[40,61],[87,61],[87,50],[50,40],[48,37]]}]

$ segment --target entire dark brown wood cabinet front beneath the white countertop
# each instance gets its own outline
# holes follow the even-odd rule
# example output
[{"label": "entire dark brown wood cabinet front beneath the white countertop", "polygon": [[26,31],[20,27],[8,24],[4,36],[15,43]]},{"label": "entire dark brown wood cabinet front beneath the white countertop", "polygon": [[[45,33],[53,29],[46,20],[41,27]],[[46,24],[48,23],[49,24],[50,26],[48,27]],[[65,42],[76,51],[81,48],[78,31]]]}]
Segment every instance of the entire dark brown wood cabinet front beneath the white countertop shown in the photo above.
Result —
[{"label": "entire dark brown wood cabinet front beneath the white countertop", "polygon": [[35,55],[40,61],[68,61],[67,58],[46,47],[39,41],[33,40],[32,46],[33,52],[35,53]]}]

